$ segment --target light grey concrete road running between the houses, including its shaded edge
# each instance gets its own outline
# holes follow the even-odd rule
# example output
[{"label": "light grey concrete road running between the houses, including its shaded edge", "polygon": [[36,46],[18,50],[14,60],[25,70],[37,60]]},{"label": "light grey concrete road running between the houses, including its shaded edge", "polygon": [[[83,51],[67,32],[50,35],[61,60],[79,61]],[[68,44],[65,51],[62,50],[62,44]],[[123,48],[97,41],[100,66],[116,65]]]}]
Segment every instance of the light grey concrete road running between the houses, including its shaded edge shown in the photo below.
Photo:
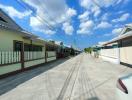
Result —
[{"label": "light grey concrete road running between the houses, including its shaded edge", "polygon": [[131,72],[83,53],[0,80],[0,100],[115,100],[118,76]]}]

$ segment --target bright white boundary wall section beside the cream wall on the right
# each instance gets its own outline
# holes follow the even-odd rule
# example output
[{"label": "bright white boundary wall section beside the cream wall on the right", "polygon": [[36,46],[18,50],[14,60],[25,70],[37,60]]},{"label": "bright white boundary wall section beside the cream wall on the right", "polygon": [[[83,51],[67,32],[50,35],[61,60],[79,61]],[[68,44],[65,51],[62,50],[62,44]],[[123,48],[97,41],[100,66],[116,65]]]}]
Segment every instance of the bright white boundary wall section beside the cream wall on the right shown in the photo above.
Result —
[{"label": "bright white boundary wall section beside the cream wall on the right", "polygon": [[105,61],[119,64],[120,63],[119,48],[101,49],[99,57]]}]

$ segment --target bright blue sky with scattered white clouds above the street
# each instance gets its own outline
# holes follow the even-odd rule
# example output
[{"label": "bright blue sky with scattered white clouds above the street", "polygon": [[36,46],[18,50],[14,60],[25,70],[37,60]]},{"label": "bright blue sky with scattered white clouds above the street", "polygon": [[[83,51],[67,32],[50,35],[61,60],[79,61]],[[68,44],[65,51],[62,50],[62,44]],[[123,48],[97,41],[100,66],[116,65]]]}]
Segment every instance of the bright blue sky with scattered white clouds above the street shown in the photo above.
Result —
[{"label": "bright blue sky with scattered white clouds above the street", "polygon": [[0,0],[24,30],[79,49],[108,41],[132,22],[132,0]]}]

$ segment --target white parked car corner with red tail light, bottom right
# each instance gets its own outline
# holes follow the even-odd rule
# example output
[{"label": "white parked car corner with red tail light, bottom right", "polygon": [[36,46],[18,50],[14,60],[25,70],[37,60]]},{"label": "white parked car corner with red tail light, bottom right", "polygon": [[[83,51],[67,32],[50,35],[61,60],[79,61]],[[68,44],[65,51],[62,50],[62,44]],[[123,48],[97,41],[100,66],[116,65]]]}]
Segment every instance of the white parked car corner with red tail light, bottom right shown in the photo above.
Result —
[{"label": "white parked car corner with red tail light, bottom right", "polygon": [[132,74],[125,75],[118,79],[116,100],[132,100]]}]

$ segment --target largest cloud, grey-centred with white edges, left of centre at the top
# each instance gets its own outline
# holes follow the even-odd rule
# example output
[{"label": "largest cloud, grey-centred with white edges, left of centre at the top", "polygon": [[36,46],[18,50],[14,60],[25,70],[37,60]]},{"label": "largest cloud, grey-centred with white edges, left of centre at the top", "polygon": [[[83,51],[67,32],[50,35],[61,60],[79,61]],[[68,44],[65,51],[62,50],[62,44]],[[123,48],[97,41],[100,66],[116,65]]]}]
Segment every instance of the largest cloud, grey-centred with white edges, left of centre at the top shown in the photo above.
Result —
[{"label": "largest cloud, grey-centred with white edges, left of centre at the top", "polygon": [[[31,22],[31,17],[30,26],[32,26],[33,29],[37,28],[38,31],[39,29],[40,31],[43,30],[43,33],[55,33],[54,30],[46,27],[47,23],[56,29],[58,26],[63,26],[65,22],[71,23],[72,17],[77,14],[75,9],[68,7],[65,0],[26,0],[25,3],[36,9],[36,18],[39,16],[42,20],[42,23]],[[70,26],[72,27],[72,25]]]}]

